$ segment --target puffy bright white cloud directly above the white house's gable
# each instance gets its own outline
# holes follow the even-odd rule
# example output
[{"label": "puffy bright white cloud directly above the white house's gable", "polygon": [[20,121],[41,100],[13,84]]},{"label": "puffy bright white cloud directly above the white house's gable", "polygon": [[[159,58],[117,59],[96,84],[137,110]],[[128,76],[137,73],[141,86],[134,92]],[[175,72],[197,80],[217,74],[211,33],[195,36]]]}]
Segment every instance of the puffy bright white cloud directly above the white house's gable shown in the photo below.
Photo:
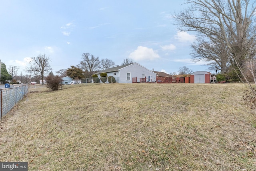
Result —
[{"label": "puffy bright white cloud directly above the white house's gable", "polygon": [[140,60],[155,60],[160,58],[160,56],[152,48],[138,46],[137,50],[134,50],[134,52],[130,53],[129,58],[135,61],[140,61]]}]

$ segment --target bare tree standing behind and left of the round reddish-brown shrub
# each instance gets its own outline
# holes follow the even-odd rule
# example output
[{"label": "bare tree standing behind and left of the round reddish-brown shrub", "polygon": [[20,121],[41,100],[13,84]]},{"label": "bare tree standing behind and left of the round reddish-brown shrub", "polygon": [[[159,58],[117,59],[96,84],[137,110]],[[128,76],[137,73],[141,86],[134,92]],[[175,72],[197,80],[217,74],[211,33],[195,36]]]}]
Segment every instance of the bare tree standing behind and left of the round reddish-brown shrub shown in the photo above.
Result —
[{"label": "bare tree standing behind and left of the round reddish-brown shrub", "polygon": [[27,67],[26,71],[33,74],[34,77],[40,76],[42,84],[44,84],[44,74],[52,70],[50,67],[50,58],[45,54],[40,54],[37,57],[32,57],[29,64],[30,67]]}]

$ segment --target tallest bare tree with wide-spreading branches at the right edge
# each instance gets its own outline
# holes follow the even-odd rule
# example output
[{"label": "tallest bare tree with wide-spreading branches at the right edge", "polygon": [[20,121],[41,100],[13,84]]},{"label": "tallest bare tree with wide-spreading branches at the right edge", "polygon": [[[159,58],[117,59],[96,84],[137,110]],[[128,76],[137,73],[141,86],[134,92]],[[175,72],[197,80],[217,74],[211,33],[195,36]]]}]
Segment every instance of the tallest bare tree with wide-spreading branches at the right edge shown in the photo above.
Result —
[{"label": "tallest bare tree with wide-spreading branches at the right edge", "polygon": [[179,30],[195,31],[198,37],[221,41],[247,80],[242,68],[255,56],[255,0],[187,0],[186,4],[191,6],[174,15]]}]

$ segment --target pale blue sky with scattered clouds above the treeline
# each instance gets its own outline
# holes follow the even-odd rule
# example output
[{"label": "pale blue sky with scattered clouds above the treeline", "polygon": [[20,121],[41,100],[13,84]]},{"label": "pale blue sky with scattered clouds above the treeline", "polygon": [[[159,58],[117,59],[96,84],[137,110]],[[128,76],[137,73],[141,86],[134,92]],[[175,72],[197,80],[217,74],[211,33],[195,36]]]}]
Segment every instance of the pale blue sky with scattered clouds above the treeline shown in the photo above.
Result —
[{"label": "pale blue sky with scattered clouds above the treeline", "polygon": [[[191,59],[192,32],[179,32],[172,18],[185,0],[1,0],[0,60],[27,74],[30,58],[45,54],[52,72],[77,66],[89,52],[116,65],[126,58],[149,70],[176,72]],[[183,4],[183,5],[182,5]]]}]

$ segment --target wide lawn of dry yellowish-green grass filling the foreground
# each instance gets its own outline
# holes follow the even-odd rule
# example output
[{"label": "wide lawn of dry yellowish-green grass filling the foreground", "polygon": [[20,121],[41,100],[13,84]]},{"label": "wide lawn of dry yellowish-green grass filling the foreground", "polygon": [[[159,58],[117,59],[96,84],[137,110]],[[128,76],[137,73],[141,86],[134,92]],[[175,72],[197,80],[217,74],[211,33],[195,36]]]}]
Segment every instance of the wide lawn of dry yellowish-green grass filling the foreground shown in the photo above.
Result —
[{"label": "wide lawn of dry yellowish-green grass filling the foreground", "polygon": [[243,84],[65,85],[30,93],[0,123],[0,161],[29,170],[256,169]]}]

